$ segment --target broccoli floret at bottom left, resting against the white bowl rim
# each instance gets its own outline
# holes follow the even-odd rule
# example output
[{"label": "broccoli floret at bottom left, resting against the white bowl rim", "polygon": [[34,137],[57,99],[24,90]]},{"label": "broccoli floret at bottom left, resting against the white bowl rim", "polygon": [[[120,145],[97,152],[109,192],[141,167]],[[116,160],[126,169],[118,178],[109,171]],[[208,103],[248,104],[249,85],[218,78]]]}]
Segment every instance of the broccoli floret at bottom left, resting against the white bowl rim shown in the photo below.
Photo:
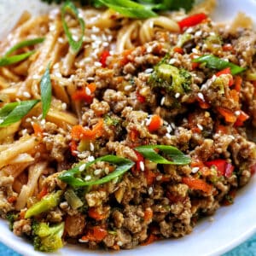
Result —
[{"label": "broccoli floret at bottom left, resting against the white bowl rim", "polygon": [[64,222],[49,226],[46,223],[32,224],[33,246],[35,250],[40,252],[55,252],[63,247],[61,237],[64,232]]}]

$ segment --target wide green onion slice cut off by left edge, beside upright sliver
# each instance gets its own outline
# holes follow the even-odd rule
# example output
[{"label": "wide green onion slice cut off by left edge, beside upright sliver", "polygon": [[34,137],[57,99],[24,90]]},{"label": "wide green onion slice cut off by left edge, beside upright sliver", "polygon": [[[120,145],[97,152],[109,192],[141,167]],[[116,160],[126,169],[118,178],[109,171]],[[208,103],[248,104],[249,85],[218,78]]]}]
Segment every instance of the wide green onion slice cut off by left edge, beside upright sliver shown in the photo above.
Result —
[{"label": "wide green onion slice cut off by left edge, beside upright sliver", "polygon": [[12,102],[0,109],[0,127],[14,124],[22,119],[38,103],[39,100]]}]

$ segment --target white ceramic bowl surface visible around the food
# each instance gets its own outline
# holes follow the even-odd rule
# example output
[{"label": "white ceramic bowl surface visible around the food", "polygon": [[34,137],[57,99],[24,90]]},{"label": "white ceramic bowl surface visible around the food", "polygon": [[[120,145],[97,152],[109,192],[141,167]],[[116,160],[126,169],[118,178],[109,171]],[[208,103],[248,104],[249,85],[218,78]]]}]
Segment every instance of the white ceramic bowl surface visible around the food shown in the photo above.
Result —
[{"label": "white ceramic bowl surface visible around the food", "polygon": [[[46,11],[48,7],[41,3],[38,4],[38,0],[0,0],[0,37],[6,35],[9,28],[15,25],[15,20],[18,20],[24,9],[38,13]],[[256,14],[256,1],[219,0],[218,9],[212,16],[214,20],[231,20],[239,10],[253,17]],[[214,221],[210,222],[209,218],[205,218],[195,227],[191,235],[181,239],[159,241],[148,247],[137,247],[133,250],[119,251],[118,253],[93,252],[84,249],[82,246],[66,246],[59,252],[50,255],[220,255],[256,233],[255,184],[256,176],[253,177],[247,187],[241,189],[234,205],[220,208],[213,217]],[[27,241],[14,236],[9,231],[8,224],[3,220],[0,220],[0,241],[26,256],[45,255],[45,253],[35,252]]]}]

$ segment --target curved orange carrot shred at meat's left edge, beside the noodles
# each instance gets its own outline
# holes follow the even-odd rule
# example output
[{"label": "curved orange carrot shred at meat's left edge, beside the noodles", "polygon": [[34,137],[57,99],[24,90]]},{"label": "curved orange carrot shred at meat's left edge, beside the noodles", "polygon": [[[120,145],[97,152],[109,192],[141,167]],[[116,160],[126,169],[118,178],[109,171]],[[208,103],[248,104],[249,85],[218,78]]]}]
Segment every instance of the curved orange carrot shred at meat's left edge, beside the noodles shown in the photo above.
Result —
[{"label": "curved orange carrot shred at meat's left edge, beside the noodles", "polygon": [[95,140],[102,135],[104,121],[99,119],[99,122],[90,130],[85,129],[82,125],[74,125],[71,130],[73,140]]}]

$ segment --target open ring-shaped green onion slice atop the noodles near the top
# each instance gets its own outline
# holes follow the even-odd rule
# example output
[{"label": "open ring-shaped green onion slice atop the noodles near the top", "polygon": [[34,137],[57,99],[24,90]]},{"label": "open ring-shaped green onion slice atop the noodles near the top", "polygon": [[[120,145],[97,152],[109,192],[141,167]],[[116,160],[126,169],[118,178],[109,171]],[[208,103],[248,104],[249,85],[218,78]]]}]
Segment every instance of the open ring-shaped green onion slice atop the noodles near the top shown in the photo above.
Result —
[{"label": "open ring-shaped green onion slice atop the noodles near the top", "polygon": [[[81,37],[79,38],[78,41],[75,41],[73,39],[73,35],[72,33],[69,31],[69,28],[67,26],[67,22],[65,20],[65,15],[66,13],[72,14],[77,20],[79,20],[79,25],[81,28]],[[61,7],[61,20],[62,20],[62,26],[64,29],[64,32],[67,36],[67,41],[68,44],[70,45],[71,49],[73,49],[74,53],[79,52],[79,49],[81,49],[82,44],[83,44],[83,38],[84,38],[84,20],[79,16],[79,10],[75,7],[75,5],[70,2],[67,1],[66,3],[64,3]]]}]

